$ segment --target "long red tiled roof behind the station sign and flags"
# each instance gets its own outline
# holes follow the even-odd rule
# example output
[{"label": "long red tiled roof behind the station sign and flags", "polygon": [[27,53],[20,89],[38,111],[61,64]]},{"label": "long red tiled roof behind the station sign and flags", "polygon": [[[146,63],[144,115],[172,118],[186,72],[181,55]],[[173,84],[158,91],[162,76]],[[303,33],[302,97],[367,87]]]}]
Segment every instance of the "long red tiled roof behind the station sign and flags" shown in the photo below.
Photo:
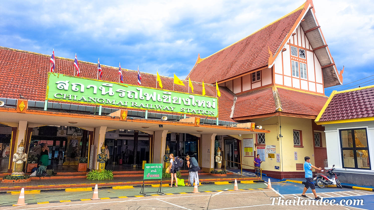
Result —
[{"label": "long red tiled roof behind the station sign and flags", "polygon": [[[19,95],[29,100],[44,101],[46,97],[47,72],[49,72],[50,55],[32,53],[22,50],[15,50],[0,47],[0,97],[19,98]],[[55,73],[74,75],[74,60],[56,57]],[[97,64],[79,61],[80,76],[85,78],[95,78]],[[118,68],[101,65],[102,80],[118,82]],[[124,82],[126,84],[137,85],[137,71],[122,68]],[[156,75],[143,73],[142,85],[144,87],[156,86]],[[161,77],[165,90],[173,90],[173,78]],[[188,84],[184,82],[184,84]],[[200,83],[193,82],[194,93],[201,94]],[[174,90],[187,93],[188,86],[175,85]],[[227,88],[220,87],[221,97],[218,98],[219,119],[233,121],[230,118],[231,107],[234,94]],[[215,85],[205,84],[206,95],[215,97]]]}]

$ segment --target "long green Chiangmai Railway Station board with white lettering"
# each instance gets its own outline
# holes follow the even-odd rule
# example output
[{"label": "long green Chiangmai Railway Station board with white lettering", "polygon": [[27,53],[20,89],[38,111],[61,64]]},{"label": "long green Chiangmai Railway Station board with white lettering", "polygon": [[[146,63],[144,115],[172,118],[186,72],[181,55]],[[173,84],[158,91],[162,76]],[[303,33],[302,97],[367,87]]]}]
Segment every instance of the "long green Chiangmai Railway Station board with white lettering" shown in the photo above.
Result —
[{"label": "long green Chiangmai Railway Station board with white lettering", "polygon": [[218,98],[48,73],[46,100],[218,117]]}]

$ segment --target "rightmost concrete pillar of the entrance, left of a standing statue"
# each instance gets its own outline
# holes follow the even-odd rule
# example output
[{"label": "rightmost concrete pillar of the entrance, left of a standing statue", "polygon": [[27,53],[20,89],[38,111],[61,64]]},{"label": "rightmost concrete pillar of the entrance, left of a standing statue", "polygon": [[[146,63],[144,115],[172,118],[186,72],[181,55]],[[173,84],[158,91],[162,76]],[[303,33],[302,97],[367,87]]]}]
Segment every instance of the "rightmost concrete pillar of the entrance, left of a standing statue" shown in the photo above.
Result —
[{"label": "rightmost concrete pillar of the entrance, left of a standing statue", "polygon": [[210,172],[214,169],[214,140],[216,135],[201,135],[201,165],[203,172]]}]

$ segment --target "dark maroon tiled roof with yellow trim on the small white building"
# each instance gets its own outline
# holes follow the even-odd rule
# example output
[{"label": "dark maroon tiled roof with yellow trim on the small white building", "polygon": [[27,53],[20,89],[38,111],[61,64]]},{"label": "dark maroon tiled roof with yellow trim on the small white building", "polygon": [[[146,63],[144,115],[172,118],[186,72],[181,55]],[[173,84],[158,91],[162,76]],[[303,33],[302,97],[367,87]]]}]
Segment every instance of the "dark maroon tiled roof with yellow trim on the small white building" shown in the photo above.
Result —
[{"label": "dark maroon tiled roof with yellow trim on the small white building", "polygon": [[318,122],[374,117],[374,86],[362,90],[337,92]]}]

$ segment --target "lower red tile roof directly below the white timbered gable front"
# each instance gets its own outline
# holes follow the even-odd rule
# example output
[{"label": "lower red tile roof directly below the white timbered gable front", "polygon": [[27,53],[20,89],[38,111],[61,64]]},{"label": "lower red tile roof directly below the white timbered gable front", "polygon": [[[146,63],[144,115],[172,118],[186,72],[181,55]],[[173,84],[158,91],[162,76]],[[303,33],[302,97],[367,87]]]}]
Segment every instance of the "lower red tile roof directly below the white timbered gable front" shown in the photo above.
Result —
[{"label": "lower red tile roof directly below the white timbered gable front", "polygon": [[315,95],[277,87],[283,112],[317,116],[327,101],[324,95]]}]

